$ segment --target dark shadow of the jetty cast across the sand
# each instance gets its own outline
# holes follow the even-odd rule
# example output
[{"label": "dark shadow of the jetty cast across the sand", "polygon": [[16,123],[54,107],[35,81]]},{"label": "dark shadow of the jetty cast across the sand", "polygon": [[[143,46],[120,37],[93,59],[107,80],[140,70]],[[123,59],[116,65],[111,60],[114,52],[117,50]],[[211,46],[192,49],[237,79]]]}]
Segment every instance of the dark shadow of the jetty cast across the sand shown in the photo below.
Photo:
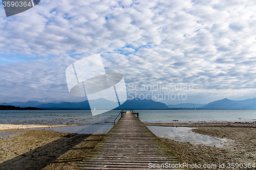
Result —
[{"label": "dark shadow of the jetty cast across the sand", "polygon": [[[64,136],[51,143],[42,145],[41,147],[31,150],[23,155],[19,155],[15,158],[12,158],[10,160],[0,163],[0,169],[36,170],[36,169],[42,169],[50,163],[81,161],[84,157],[82,157],[81,154],[74,153],[74,152],[76,152],[75,150],[86,151],[94,148],[94,144],[90,144],[90,143],[93,143],[92,140],[97,140],[97,139],[92,139],[92,140],[87,139],[89,136],[91,136],[91,134],[70,134],[70,135]],[[97,143],[99,141],[97,141]],[[81,142],[85,142],[85,144],[80,144],[80,147],[77,147],[76,145],[78,145]],[[86,143],[89,143],[89,144],[87,145]],[[62,154],[67,153],[70,150],[74,150],[74,152],[72,152],[68,156],[66,155],[64,159],[61,159],[62,157],[60,156]]]}]

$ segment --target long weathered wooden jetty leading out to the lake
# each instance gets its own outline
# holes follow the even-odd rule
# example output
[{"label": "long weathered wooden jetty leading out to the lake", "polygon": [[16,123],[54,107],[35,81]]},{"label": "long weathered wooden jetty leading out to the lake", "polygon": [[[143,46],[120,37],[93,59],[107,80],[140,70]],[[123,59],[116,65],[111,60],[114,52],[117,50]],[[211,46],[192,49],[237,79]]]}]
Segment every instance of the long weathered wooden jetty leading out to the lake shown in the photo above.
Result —
[{"label": "long weathered wooden jetty leading out to the lake", "polygon": [[76,169],[179,169],[179,163],[132,112],[125,112]]}]

